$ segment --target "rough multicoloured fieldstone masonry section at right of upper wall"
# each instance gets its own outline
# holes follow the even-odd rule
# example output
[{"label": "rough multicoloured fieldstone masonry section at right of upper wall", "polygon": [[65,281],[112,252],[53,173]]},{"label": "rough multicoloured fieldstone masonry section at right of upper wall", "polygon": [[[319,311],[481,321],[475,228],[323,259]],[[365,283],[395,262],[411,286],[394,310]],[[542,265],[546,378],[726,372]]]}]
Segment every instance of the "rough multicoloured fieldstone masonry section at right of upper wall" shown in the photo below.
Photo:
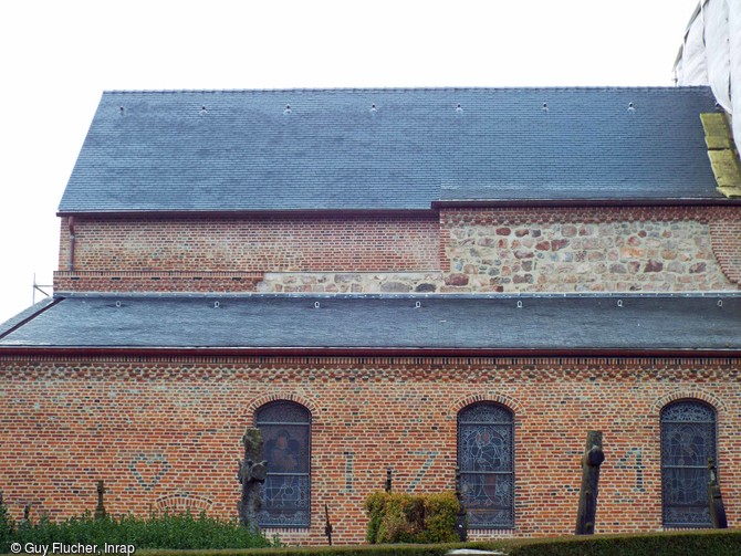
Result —
[{"label": "rough multicoloured fieldstone masonry section at right of upper wall", "polygon": [[[722,221],[711,225],[708,217],[716,214],[708,212],[712,210],[448,210],[441,214],[441,249],[450,273],[441,291],[737,290],[739,248],[727,246],[730,242],[719,235]],[[728,275],[716,251],[727,261]]]}]

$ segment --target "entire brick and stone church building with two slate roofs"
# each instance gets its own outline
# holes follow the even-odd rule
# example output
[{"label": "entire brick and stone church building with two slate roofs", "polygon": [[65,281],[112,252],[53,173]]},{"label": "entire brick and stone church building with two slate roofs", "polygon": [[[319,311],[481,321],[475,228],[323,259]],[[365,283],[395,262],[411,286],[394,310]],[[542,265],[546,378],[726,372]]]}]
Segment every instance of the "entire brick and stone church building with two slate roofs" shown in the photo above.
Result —
[{"label": "entire brick and stone church building with two slate roofs", "polygon": [[452,491],[470,538],[741,525],[741,174],[709,87],[103,94],[54,296],[0,324],[11,513],[362,543]]}]

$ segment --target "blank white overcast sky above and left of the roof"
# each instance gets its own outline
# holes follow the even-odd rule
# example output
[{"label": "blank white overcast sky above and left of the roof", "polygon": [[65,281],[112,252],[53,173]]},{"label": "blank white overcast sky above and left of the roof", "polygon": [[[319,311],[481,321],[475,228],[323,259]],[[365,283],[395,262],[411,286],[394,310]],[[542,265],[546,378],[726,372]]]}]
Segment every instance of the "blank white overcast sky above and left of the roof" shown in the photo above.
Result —
[{"label": "blank white overcast sky above and left of the roof", "polygon": [[[671,86],[697,0],[25,0],[0,11],[0,322],[56,270],[103,91]],[[39,301],[40,295],[36,295]]]}]

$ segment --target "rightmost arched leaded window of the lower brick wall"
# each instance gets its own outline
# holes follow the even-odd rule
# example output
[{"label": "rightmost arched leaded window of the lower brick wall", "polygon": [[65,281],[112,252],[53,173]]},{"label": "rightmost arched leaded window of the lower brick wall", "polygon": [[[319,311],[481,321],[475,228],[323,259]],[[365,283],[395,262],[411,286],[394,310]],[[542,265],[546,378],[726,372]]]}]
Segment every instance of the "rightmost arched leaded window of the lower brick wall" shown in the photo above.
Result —
[{"label": "rightmost arched leaded window of the lower brick wall", "polygon": [[718,461],[716,410],[680,400],[661,410],[661,491],[665,527],[710,527],[708,458]]}]

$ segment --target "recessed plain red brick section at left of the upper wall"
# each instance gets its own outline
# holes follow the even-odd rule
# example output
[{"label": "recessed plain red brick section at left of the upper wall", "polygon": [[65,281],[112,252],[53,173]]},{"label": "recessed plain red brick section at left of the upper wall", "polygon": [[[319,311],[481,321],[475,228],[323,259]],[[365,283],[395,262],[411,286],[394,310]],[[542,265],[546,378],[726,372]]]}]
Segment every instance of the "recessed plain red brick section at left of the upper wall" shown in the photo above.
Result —
[{"label": "recessed plain red brick section at left of the upper wall", "polygon": [[[74,218],[77,271],[428,271],[434,213]],[[69,270],[62,219],[60,270]]]}]

